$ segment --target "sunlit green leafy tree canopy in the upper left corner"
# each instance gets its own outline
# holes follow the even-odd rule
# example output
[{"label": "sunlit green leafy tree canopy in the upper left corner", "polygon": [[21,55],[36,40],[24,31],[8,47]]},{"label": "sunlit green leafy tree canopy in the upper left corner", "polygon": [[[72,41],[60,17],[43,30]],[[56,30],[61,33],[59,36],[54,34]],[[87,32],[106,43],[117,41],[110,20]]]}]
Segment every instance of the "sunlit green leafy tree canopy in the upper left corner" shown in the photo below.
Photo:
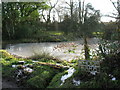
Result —
[{"label": "sunlit green leafy tree canopy in the upper left corner", "polygon": [[15,38],[16,29],[20,24],[39,20],[39,11],[47,8],[49,6],[45,2],[3,2],[3,33],[6,33],[9,39]]}]

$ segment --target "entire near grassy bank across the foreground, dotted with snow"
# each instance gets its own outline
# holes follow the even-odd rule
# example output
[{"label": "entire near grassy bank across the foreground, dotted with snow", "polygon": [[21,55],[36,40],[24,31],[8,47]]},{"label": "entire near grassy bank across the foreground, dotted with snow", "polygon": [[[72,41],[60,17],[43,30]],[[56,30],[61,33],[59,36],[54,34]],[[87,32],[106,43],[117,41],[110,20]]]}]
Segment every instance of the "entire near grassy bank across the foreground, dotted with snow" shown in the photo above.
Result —
[{"label": "entire near grassy bank across the foreground, dotted with snow", "polygon": [[[120,88],[119,69],[111,73],[105,71],[107,66],[101,65],[101,72],[91,74],[68,62],[60,62],[50,57],[32,59],[16,58],[7,51],[0,50],[2,55],[3,78],[10,78],[19,85],[28,88]],[[58,65],[59,63],[59,65]],[[68,75],[68,68],[75,68],[72,76],[61,85],[61,77]],[[103,70],[104,69],[104,70]],[[19,74],[19,72],[22,74]],[[107,70],[108,71],[108,70]]]}]

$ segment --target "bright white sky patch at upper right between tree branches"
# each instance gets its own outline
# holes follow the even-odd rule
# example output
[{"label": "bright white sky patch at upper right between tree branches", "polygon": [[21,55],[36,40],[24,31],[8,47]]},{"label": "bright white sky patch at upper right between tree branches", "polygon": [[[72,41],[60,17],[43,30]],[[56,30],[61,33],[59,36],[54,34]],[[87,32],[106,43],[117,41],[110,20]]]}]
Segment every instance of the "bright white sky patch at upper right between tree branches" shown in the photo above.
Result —
[{"label": "bright white sky patch at upper right between tree branches", "polygon": [[[86,1],[90,2],[95,9],[100,10],[101,14],[103,15],[112,15],[113,12],[116,13],[116,10],[113,4],[110,2],[110,0],[86,0]],[[112,1],[117,1],[117,0],[112,0]],[[111,20],[115,21],[115,19],[105,16],[103,16],[101,20],[104,22]]]}]

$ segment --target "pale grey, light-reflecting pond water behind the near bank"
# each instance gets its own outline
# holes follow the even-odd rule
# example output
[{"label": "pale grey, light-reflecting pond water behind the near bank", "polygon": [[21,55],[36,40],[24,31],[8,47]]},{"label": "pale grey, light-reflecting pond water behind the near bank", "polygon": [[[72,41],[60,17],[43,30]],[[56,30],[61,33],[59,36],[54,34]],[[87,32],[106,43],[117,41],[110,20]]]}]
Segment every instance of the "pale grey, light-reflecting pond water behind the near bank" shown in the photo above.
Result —
[{"label": "pale grey, light-reflecting pond water behind the near bank", "polygon": [[[98,47],[98,39],[88,39],[90,49]],[[79,57],[84,58],[83,40],[69,42],[45,42],[45,43],[19,43],[6,47],[6,50],[12,55],[28,58],[34,55],[48,54],[59,60],[71,61]]]}]

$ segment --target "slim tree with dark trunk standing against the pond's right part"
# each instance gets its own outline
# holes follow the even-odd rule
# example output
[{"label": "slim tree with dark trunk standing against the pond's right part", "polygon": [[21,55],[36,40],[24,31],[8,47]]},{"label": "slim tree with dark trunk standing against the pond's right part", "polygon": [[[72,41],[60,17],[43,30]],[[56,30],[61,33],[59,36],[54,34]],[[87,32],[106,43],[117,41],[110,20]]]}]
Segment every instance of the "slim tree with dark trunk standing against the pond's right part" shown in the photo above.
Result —
[{"label": "slim tree with dark trunk standing against the pond's right part", "polygon": [[78,32],[82,33],[84,39],[85,59],[89,59],[89,47],[87,43],[88,34],[96,29],[99,21],[99,10],[95,10],[90,3],[85,5],[85,0],[78,0]]}]

